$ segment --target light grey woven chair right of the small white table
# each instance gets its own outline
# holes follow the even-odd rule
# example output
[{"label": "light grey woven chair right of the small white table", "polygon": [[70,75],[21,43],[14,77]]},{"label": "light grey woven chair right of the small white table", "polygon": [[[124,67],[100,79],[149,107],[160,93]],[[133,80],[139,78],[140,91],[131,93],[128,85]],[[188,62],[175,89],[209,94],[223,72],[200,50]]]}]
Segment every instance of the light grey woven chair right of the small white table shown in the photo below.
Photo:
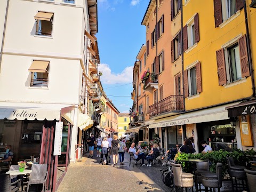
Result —
[{"label": "light grey woven chair right of the small white table", "polygon": [[43,190],[45,191],[45,182],[48,176],[47,164],[33,164],[31,170],[27,192],[31,184],[43,184]]}]

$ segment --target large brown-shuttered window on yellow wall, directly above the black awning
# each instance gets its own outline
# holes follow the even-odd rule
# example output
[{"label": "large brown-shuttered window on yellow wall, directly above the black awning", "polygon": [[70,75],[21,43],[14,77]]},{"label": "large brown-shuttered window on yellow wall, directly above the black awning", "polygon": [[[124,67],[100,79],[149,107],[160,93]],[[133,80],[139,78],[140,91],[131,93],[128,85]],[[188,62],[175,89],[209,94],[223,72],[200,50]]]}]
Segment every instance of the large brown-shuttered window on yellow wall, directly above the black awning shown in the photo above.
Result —
[{"label": "large brown-shuttered window on yellow wall, directly above the black awning", "polygon": [[219,85],[235,82],[250,76],[247,56],[246,36],[216,51]]}]

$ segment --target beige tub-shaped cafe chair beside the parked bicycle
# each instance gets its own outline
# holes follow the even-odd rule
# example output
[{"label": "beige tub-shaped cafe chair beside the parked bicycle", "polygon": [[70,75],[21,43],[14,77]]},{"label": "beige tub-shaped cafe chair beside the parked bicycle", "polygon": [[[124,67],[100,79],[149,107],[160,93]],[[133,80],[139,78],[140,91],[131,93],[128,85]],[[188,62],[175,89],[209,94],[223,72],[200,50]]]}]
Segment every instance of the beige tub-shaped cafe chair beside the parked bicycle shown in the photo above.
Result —
[{"label": "beige tub-shaped cafe chair beside the parked bicycle", "polygon": [[178,191],[177,187],[189,188],[193,190],[194,186],[194,175],[191,173],[182,172],[181,164],[171,163],[172,172],[174,177],[175,191]]}]

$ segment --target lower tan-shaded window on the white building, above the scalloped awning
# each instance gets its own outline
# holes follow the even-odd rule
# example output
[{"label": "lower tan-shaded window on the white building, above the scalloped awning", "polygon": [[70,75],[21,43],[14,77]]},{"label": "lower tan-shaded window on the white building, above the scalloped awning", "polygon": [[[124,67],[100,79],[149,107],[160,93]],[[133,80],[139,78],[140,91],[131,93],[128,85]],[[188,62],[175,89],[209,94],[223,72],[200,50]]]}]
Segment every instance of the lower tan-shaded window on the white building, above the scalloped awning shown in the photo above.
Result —
[{"label": "lower tan-shaded window on the white building, above the scalloped awning", "polygon": [[28,69],[31,72],[30,86],[48,87],[50,61],[34,60]]}]

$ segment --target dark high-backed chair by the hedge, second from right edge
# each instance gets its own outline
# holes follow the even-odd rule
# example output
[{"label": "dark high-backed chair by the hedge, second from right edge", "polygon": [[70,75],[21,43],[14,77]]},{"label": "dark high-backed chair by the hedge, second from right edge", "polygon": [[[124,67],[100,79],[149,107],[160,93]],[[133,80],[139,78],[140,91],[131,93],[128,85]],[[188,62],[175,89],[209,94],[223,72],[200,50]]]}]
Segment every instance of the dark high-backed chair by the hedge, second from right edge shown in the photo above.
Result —
[{"label": "dark high-backed chair by the hedge, second from right edge", "polygon": [[[234,187],[236,188],[236,191],[238,191],[238,188],[241,188],[241,183],[237,183],[237,178],[240,178],[242,180],[242,188],[245,190],[245,187],[247,186],[246,181],[246,173],[244,171],[245,166],[241,165],[235,165],[235,161],[233,157],[226,157],[228,162],[228,171],[229,176],[232,183],[232,191],[234,192]],[[235,178],[235,184],[233,183],[233,177]],[[245,180],[245,185],[244,185]]]}]

